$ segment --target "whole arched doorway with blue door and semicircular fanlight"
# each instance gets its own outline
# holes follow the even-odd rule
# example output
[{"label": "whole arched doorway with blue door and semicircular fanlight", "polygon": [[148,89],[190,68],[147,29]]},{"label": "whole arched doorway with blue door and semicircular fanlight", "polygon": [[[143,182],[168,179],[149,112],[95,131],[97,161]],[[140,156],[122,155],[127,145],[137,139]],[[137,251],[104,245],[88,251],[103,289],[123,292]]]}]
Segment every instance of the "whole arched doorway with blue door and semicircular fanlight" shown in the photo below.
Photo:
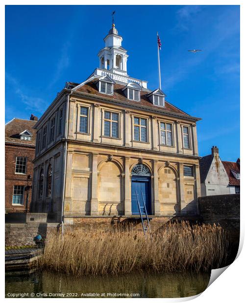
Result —
[{"label": "whole arched doorway with blue door and semicircular fanlight", "polygon": [[[132,215],[140,214],[137,202],[137,195],[141,207],[144,206],[144,198],[147,214],[151,215],[150,171],[146,165],[136,164],[132,169],[131,174]],[[141,210],[143,211],[143,208]]]}]

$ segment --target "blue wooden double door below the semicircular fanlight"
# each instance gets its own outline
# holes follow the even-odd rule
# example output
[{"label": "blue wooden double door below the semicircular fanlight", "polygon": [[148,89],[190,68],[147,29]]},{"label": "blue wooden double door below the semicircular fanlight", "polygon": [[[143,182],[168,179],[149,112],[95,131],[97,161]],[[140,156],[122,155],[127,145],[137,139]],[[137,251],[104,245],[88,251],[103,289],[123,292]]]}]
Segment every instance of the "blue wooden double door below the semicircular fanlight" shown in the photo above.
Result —
[{"label": "blue wooden double door below the semicircular fanlight", "polygon": [[[148,177],[134,177],[132,176],[132,186],[131,186],[131,201],[132,201],[132,214],[139,215],[139,207],[137,202],[137,196],[140,202],[140,206],[144,206],[143,197],[146,203],[147,214],[151,214],[151,207],[150,207],[150,178]],[[143,197],[142,197],[143,194]],[[143,213],[143,208],[141,209]]]}]

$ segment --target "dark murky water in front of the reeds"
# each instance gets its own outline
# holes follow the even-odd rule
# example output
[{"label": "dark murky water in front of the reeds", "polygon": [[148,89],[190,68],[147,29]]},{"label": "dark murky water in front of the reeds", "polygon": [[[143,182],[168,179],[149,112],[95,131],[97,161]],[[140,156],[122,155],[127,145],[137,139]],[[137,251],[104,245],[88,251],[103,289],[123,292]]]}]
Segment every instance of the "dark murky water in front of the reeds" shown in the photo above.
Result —
[{"label": "dark murky water in front of the reeds", "polygon": [[[97,277],[67,276],[44,270],[32,273],[6,273],[5,297],[15,294],[27,298],[123,298],[131,294],[134,298],[180,298],[203,292],[210,279],[210,273],[146,273]],[[34,295],[31,295],[33,293]],[[121,294],[121,295],[120,295]],[[20,296],[20,295],[19,295]]]}]

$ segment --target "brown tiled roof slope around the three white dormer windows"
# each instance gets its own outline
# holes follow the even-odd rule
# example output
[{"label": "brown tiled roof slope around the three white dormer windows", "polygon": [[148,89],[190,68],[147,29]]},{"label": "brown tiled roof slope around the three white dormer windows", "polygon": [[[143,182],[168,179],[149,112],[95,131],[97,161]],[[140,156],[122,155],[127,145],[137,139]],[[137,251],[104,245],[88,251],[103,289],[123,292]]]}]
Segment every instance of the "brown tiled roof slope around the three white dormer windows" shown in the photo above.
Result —
[{"label": "brown tiled roof slope around the three white dormer windows", "polygon": [[[81,91],[81,92],[85,92],[85,93],[105,97],[105,94],[100,93],[98,91],[98,88],[96,87],[95,82],[97,80],[98,79],[94,79],[91,82],[88,82],[88,83],[84,84],[82,87],[79,87],[77,89],[77,91]],[[156,106],[156,105],[152,104],[149,101],[149,99],[147,98],[147,94],[149,93],[148,91],[144,91],[144,90],[141,91],[141,100],[140,101],[128,100],[126,98],[126,96],[124,95],[123,91],[122,91],[123,87],[124,87],[123,85],[115,84],[113,95],[106,95],[106,98],[116,99],[116,100],[119,100],[119,101],[121,101],[125,104],[135,104],[135,105],[138,105],[138,106],[139,106],[139,104],[141,104],[141,105],[147,106],[149,108],[155,108],[155,109],[158,109],[158,110],[161,110],[161,109],[168,110],[170,112],[180,113],[182,115],[186,115],[186,116],[190,117],[190,115],[188,115],[186,112],[180,110],[179,108],[174,107],[172,104],[170,104],[167,101],[165,101],[165,107],[164,108],[160,108],[159,106]]]}]

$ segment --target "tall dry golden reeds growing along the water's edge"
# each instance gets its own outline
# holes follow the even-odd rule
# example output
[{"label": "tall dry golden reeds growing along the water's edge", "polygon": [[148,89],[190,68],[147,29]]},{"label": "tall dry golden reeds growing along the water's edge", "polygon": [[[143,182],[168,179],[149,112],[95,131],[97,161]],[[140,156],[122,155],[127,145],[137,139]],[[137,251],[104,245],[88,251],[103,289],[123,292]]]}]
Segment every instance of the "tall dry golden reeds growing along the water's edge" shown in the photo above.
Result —
[{"label": "tall dry golden reeds growing along the water's edge", "polygon": [[46,240],[41,268],[97,275],[135,270],[208,271],[225,263],[228,239],[220,226],[167,223],[147,237],[133,228],[70,232]]}]

